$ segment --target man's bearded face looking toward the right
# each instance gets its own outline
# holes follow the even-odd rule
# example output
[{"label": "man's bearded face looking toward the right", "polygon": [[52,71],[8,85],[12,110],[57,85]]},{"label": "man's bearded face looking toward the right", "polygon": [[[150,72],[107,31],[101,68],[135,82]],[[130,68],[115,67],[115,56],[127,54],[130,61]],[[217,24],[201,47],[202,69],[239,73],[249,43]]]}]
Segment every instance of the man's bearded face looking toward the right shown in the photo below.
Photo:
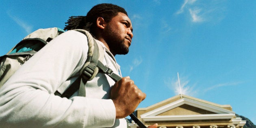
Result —
[{"label": "man's bearded face looking toward the right", "polygon": [[104,39],[113,55],[127,54],[132,42],[132,23],[124,13],[118,13],[107,23]]}]

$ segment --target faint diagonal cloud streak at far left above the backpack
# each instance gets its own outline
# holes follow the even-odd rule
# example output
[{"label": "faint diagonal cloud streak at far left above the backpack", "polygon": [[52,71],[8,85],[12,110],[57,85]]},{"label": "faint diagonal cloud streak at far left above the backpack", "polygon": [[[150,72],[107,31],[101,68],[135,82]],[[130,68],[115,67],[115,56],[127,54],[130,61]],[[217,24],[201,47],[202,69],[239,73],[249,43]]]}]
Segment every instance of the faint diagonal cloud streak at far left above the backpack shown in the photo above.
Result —
[{"label": "faint diagonal cloud streak at far left above the backpack", "polygon": [[9,15],[9,17],[11,17],[11,19],[13,19],[13,21],[15,21],[20,27],[22,27],[26,31],[27,34],[32,32],[33,26],[27,24],[20,18],[11,15],[9,12],[7,12],[7,14]]}]

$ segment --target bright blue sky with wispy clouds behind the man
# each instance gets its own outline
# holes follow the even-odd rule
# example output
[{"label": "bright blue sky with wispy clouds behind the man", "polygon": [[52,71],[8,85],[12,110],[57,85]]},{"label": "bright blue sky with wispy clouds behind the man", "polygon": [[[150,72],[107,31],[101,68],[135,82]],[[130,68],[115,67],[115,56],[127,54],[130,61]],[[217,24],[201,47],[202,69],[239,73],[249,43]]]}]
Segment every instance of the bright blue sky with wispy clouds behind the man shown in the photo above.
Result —
[{"label": "bright blue sky with wispy clouds behind the man", "polygon": [[124,7],[134,29],[122,75],[147,94],[147,107],[182,94],[256,123],[256,0],[1,0],[0,55],[38,28],[64,28],[95,4]]}]

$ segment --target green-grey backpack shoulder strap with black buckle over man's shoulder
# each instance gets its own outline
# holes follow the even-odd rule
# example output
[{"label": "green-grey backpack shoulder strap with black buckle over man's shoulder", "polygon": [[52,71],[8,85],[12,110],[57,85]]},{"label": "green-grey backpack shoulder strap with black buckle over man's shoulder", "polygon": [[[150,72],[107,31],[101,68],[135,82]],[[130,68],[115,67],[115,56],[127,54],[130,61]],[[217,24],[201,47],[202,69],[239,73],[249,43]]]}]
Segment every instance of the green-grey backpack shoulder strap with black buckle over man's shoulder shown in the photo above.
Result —
[{"label": "green-grey backpack shoulder strap with black buckle over man's shoulder", "polygon": [[86,30],[74,29],[87,36],[88,41],[88,54],[85,64],[80,69],[80,76],[71,84],[63,93],[56,91],[54,94],[61,97],[69,98],[77,90],[79,96],[85,96],[85,84],[88,80],[92,80],[99,72],[97,64],[104,59],[104,50],[100,44],[93,38],[93,36]]}]

